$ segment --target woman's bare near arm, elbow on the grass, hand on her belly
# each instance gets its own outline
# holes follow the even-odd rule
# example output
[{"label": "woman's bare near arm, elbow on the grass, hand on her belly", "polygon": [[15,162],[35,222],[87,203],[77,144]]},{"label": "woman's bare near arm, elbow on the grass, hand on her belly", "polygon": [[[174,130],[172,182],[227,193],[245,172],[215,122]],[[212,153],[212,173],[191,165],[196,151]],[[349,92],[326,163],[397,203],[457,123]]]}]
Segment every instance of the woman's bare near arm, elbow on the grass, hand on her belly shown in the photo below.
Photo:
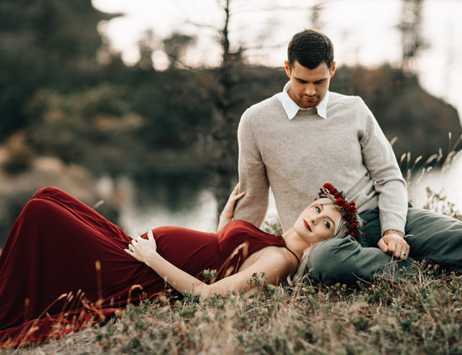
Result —
[{"label": "woman's bare near arm, elbow on the grass, hand on her belly", "polygon": [[289,256],[281,253],[279,247],[270,246],[257,261],[245,270],[207,285],[162,258],[156,251],[156,241],[152,231],[148,232],[147,240],[138,237],[132,241],[132,245],[129,244],[129,249],[125,251],[137,260],[146,263],[180,293],[185,291],[193,295],[200,293],[203,298],[211,297],[213,293],[225,294],[228,290],[232,292],[248,290],[254,285],[249,285],[247,280],[252,280],[255,273],[257,275],[264,273],[267,283],[277,285],[289,275],[291,266]]}]

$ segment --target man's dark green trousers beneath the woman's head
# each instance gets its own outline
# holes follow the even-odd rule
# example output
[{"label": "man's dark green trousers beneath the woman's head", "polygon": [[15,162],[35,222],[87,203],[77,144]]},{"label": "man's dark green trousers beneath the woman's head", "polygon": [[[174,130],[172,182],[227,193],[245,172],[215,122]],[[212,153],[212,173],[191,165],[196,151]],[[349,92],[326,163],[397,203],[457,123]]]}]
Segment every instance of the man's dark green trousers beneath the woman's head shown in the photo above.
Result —
[{"label": "man's dark green trousers beneath the woman's head", "polygon": [[406,241],[409,258],[397,261],[377,246],[382,238],[379,209],[360,214],[364,233],[361,243],[348,236],[328,239],[318,244],[308,259],[311,277],[326,284],[355,284],[357,280],[371,280],[375,275],[401,278],[398,271],[404,266],[414,273],[414,260],[430,259],[441,266],[462,273],[462,222],[426,209],[409,207],[407,211]]}]

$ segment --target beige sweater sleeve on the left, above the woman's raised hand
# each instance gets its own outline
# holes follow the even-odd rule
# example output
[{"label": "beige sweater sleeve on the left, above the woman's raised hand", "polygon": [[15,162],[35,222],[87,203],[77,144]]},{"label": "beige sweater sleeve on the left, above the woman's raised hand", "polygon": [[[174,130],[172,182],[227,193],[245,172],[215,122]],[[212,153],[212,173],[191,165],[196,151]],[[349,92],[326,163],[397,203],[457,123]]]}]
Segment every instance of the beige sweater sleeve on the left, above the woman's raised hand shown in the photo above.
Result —
[{"label": "beige sweater sleeve on the left, above the woman's raised hand", "polygon": [[240,192],[245,191],[245,195],[237,201],[234,219],[261,226],[268,209],[269,182],[250,118],[250,114],[245,112],[237,129]]}]

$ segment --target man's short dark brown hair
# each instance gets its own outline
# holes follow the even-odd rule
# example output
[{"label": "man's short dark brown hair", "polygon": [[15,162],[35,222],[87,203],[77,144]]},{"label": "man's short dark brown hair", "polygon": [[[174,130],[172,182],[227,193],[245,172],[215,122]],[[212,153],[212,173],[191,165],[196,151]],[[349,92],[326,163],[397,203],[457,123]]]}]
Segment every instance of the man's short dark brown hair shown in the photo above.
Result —
[{"label": "man's short dark brown hair", "polygon": [[287,48],[289,67],[299,62],[303,67],[314,69],[325,62],[329,69],[333,65],[333,44],[327,35],[314,30],[304,30],[292,37]]}]

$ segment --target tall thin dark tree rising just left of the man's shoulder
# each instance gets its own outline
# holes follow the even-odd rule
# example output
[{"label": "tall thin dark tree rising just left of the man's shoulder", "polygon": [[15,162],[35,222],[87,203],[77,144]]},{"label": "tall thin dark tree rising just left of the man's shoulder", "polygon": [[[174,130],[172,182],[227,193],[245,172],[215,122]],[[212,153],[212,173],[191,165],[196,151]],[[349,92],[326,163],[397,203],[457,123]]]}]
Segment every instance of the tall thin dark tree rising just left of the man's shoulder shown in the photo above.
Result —
[{"label": "tall thin dark tree rising just left of the man's shoulder", "polygon": [[[233,48],[230,43],[230,21],[234,16],[231,5],[236,4],[236,1],[217,0],[217,4],[225,15],[222,26],[215,28],[222,55],[220,65],[212,70],[213,84],[207,82],[212,116],[208,137],[204,141],[208,143],[208,151],[213,157],[210,165],[215,174],[213,188],[217,210],[220,212],[237,180],[237,126],[240,116],[247,107],[275,92],[267,92],[274,84],[267,82],[272,75],[266,73],[267,77],[259,77],[261,72],[246,64],[244,53],[249,48],[242,44]],[[267,9],[275,10],[274,6]],[[284,77],[284,73],[278,73],[278,76]],[[267,96],[262,97],[262,94]]]}]

